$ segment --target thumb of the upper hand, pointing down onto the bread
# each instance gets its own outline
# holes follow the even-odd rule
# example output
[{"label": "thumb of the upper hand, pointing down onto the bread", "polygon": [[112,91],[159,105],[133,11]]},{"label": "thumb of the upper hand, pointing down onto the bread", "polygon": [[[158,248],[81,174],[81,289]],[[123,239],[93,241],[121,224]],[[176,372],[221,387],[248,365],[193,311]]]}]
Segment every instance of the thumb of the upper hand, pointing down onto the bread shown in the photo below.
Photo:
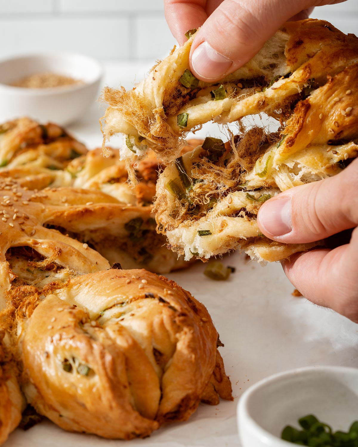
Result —
[{"label": "thumb of the upper hand, pointing down onto the bread", "polygon": [[192,43],[191,71],[205,81],[219,80],[234,72],[307,3],[307,0],[224,0]]}]

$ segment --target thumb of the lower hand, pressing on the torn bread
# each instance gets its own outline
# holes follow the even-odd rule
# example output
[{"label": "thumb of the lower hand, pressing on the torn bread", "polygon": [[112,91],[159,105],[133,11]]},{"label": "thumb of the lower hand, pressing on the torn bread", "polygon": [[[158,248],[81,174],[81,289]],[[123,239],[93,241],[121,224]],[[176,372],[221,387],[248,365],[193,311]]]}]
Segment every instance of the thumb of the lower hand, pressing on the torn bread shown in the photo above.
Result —
[{"label": "thumb of the lower hand, pressing on the torn bread", "polygon": [[300,244],[358,224],[358,160],[334,177],[296,186],[269,199],[257,223],[270,239]]}]

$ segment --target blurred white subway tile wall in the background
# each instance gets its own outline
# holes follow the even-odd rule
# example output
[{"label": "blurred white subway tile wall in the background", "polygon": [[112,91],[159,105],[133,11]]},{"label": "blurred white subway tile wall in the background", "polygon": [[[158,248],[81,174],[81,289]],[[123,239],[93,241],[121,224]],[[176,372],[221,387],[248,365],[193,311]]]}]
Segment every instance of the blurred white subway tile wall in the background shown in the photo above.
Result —
[{"label": "blurred white subway tile wall in the background", "polygon": [[[315,8],[311,17],[358,34],[358,0]],[[64,50],[154,61],[175,45],[163,0],[0,0],[0,41],[0,59]]]}]

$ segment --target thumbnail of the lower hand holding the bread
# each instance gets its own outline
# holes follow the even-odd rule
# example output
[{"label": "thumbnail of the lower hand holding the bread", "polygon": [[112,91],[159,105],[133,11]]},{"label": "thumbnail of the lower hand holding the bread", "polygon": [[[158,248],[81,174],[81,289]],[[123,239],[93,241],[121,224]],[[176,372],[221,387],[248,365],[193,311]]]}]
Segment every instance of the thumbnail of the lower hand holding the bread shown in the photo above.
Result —
[{"label": "thumbnail of the lower hand holding the bread", "polygon": [[261,227],[273,236],[283,236],[292,230],[291,198],[277,198],[265,203],[258,215]]}]

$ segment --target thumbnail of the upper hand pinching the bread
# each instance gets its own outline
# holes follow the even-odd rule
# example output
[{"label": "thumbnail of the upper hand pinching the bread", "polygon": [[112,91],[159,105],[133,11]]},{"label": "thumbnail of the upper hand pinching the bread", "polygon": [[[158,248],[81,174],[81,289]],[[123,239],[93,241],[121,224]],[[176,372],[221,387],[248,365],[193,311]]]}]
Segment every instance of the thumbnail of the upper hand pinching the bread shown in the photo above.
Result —
[{"label": "thumbnail of the upper hand pinching the bread", "polygon": [[192,67],[205,79],[222,77],[230,68],[232,60],[214,50],[208,42],[200,43],[192,54]]}]

